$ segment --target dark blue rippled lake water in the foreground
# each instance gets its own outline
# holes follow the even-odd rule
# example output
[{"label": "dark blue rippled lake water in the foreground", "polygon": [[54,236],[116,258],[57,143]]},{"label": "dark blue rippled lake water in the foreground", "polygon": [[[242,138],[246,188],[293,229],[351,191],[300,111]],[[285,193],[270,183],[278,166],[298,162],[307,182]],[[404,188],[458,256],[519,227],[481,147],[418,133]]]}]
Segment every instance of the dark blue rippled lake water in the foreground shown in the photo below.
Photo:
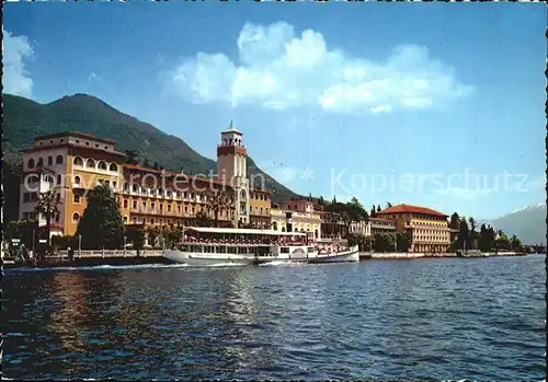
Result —
[{"label": "dark blue rippled lake water in the foreground", "polygon": [[4,270],[13,379],[544,379],[545,256]]}]

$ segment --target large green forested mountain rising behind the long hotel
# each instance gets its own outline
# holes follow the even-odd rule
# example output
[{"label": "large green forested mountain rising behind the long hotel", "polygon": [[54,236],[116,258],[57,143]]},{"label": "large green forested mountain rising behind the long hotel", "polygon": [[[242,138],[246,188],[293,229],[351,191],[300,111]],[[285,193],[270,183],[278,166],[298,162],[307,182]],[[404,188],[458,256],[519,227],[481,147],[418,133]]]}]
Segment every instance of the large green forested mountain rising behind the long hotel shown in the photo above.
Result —
[{"label": "large green forested mountain rising behind the long hotel", "polygon": [[[208,174],[216,170],[215,161],[194,151],[181,138],[162,132],[94,96],[75,94],[39,104],[3,94],[3,148],[12,162],[19,158],[20,149],[33,143],[34,136],[61,131],[88,132],[116,140],[119,151],[135,150],[140,153],[141,161],[147,158],[149,163],[158,162],[169,171]],[[248,174],[264,176],[274,201],[296,196],[259,169],[251,158],[248,158]],[[256,176],[256,183],[259,180]]]}]

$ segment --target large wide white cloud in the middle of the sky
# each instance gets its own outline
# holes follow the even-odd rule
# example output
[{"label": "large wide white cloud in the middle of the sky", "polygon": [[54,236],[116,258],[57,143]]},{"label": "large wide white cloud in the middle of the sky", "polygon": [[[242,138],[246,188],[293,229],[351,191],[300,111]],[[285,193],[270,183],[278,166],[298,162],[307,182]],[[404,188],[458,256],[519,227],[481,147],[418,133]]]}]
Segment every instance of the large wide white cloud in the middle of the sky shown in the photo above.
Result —
[{"label": "large wide white cloud in the middle of the sky", "polygon": [[430,108],[473,91],[416,45],[397,46],[385,61],[373,61],[328,47],[321,33],[306,30],[299,36],[290,24],[277,22],[247,23],[237,46],[239,62],[201,51],[168,73],[169,84],[197,104],[333,113]]}]

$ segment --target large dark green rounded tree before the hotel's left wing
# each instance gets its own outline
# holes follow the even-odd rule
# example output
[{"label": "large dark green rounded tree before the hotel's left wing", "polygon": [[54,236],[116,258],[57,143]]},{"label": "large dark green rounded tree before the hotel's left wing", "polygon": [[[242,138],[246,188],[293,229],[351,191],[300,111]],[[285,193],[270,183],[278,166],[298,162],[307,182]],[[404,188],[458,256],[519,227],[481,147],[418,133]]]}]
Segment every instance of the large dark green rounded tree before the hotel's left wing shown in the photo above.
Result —
[{"label": "large dark green rounded tree before the hotel's left wing", "polygon": [[99,184],[88,194],[76,234],[82,236],[87,248],[119,248],[124,238],[124,221],[111,187]]}]

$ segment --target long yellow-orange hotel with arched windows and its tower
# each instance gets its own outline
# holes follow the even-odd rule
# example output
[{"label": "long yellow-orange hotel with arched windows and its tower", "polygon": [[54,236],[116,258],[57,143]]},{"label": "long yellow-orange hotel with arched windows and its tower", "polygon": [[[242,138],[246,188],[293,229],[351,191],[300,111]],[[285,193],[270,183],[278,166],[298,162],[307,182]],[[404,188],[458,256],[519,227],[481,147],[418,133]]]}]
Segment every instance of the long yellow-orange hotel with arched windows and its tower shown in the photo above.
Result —
[{"label": "long yellow-orange hotel with arched windows and its tower", "polygon": [[216,193],[232,201],[218,211],[219,225],[271,224],[271,194],[250,186],[242,134],[232,124],[221,132],[217,175],[212,178],[124,163],[125,154],[116,150],[115,141],[82,132],[35,137],[22,157],[20,219],[37,219],[45,225],[44,217],[34,211],[39,193],[54,190],[60,215],[52,223],[52,234],[76,233],[85,194],[101,183],[113,189],[128,225],[193,225],[204,216],[214,219]]}]

